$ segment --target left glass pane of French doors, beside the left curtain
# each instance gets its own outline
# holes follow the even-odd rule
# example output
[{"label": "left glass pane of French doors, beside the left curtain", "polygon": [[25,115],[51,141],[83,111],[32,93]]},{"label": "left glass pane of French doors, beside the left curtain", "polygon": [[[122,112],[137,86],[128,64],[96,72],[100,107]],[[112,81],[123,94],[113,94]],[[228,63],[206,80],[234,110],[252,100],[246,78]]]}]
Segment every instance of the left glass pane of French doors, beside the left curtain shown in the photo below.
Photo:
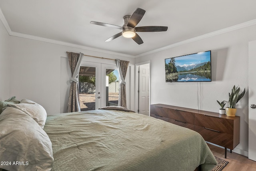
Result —
[{"label": "left glass pane of French doors, beside the left curtain", "polygon": [[95,110],[96,68],[81,66],[78,85],[81,111]]}]

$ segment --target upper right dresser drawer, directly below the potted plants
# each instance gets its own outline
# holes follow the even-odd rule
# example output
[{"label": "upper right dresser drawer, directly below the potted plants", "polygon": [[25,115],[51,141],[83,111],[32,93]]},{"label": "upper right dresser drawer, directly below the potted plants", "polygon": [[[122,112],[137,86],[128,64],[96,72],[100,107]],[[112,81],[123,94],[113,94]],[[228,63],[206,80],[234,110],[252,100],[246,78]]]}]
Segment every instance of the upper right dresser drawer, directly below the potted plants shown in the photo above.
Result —
[{"label": "upper right dresser drawer, directly below the potted plants", "polygon": [[234,134],[234,120],[212,117],[195,113],[195,125],[220,131],[221,133]]}]

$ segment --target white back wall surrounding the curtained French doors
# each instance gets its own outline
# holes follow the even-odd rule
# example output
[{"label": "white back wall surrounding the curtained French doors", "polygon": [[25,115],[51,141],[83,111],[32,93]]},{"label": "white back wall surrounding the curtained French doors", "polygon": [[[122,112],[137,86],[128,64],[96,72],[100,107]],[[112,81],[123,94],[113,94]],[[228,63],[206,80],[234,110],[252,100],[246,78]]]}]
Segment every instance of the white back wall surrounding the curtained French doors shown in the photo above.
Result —
[{"label": "white back wall surrounding the curtained French doors", "polygon": [[[11,95],[16,95],[17,99],[31,99],[41,104],[48,115],[66,112],[71,76],[66,51],[128,60],[134,68],[134,58],[10,36]],[[102,62],[102,59],[92,57],[84,57],[83,60]],[[134,80],[134,74],[131,80]],[[134,87],[134,81],[129,84]],[[128,103],[131,109],[134,109],[130,101],[133,100],[129,99]]]}]

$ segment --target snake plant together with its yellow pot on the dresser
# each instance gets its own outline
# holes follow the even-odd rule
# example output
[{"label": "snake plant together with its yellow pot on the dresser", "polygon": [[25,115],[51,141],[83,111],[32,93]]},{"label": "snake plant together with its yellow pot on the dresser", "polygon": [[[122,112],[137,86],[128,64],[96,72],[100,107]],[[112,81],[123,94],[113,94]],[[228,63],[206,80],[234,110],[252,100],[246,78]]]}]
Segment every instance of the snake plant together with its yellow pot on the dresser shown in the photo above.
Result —
[{"label": "snake plant together with its yellow pot on the dresser", "polygon": [[232,88],[232,92],[228,93],[229,99],[228,99],[228,107],[226,107],[226,115],[228,116],[236,116],[236,103],[244,96],[244,91],[240,94],[240,88],[234,87]]}]

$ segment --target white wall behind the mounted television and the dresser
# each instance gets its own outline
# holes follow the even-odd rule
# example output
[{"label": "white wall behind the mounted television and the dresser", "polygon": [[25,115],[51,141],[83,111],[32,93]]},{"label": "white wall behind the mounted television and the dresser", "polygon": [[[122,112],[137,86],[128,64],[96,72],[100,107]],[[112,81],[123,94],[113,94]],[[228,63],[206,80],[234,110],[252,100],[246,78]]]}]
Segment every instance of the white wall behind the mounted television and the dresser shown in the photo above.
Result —
[{"label": "white wall behind the mounted television and the dresser", "polygon": [[[245,87],[246,94],[236,105],[236,115],[240,116],[240,144],[234,151],[248,155],[248,42],[252,40],[256,40],[256,26],[136,58],[136,63],[151,60],[151,104],[218,112],[216,100],[228,101],[228,92],[234,85]],[[164,59],[206,50],[212,50],[212,82],[165,82]]]}]

